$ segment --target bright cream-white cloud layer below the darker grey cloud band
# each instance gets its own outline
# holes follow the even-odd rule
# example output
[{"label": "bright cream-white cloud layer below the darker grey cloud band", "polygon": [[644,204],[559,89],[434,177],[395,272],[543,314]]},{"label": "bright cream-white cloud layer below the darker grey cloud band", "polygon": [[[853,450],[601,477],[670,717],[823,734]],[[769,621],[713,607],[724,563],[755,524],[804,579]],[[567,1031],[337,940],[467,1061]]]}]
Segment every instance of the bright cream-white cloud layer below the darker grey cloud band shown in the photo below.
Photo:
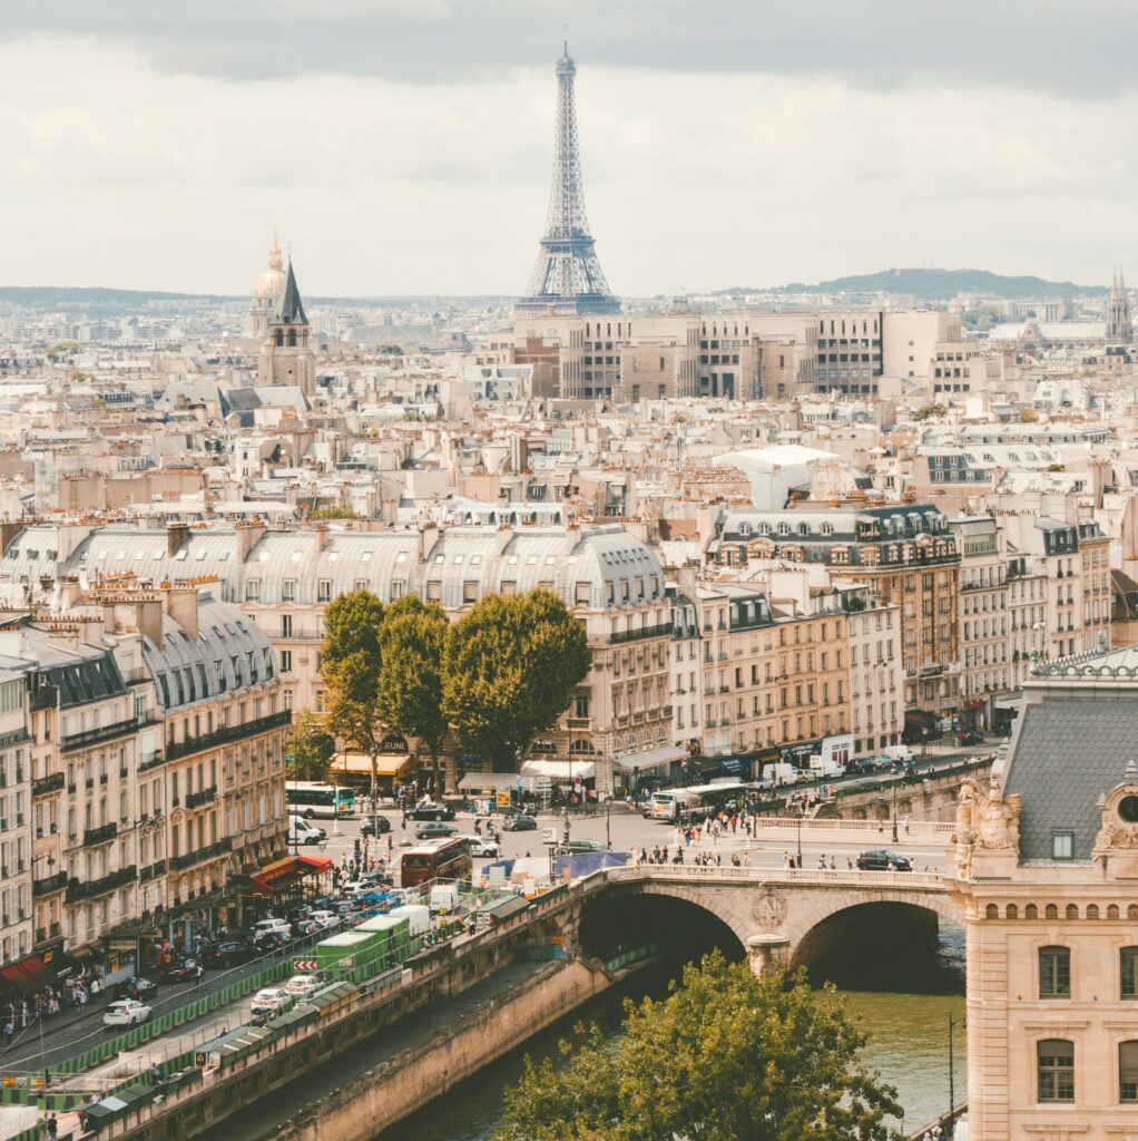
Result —
[{"label": "bright cream-white cloud layer below the darker grey cloud band", "polygon": [[[578,58],[588,213],[624,293],[918,264],[1100,281],[1138,264],[1136,104]],[[514,293],[553,113],[551,66],[252,82],[92,37],[8,42],[3,277],[244,292],[277,227],[308,294]]]}]

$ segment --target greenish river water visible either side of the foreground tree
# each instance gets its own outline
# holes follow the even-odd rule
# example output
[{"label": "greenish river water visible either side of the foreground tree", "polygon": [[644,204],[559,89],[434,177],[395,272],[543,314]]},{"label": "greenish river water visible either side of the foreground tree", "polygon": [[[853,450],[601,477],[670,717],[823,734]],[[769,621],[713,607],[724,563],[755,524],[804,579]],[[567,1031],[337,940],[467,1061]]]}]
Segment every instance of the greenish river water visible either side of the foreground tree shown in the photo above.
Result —
[{"label": "greenish river water visible either side of the foreground tree", "polygon": [[[903,1126],[913,1132],[949,1106],[949,1018],[956,1020],[954,1066],[956,1099],[967,1095],[965,1000],[962,973],[964,932],[942,928],[940,955],[922,981],[920,994],[846,992],[847,1009],[870,1035],[863,1051],[865,1065],[894,1085],[905,1109]],[[503,1090],[522,1071],[526,1054],[535,1059],[555,1057],[560,1038],[574,1023],[598,1022],[610,1034],[619,1033],[625,998],[643,995],[663,997],[668,980],[682,970],[678,962],[653,964],[571,1015],[554,1023],[520,1050],[507,1054],[456,1086],[432,1104],[393,1126],[383,1141],[487,1141],[494,1135],[502,1112]]]}]

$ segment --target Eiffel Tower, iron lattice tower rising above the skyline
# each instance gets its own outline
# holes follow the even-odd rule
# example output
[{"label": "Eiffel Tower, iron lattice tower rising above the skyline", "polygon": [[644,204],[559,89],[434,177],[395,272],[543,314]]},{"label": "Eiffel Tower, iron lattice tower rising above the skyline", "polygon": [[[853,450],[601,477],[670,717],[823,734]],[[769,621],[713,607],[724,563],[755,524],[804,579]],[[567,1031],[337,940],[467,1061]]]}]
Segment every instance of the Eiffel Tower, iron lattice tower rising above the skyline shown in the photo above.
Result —
[{"label": "Eiffel Tower, iron lattice tower rising above the skyline", "polygon": [[556,63],[558,135],[550,187],[550,215],[526,296],[518,313],[619,313],[620,302],[609,292],[593,235],[585,217],[585,187],[577,149],[577,108],[574,76],[577,65],[569,46]]}]

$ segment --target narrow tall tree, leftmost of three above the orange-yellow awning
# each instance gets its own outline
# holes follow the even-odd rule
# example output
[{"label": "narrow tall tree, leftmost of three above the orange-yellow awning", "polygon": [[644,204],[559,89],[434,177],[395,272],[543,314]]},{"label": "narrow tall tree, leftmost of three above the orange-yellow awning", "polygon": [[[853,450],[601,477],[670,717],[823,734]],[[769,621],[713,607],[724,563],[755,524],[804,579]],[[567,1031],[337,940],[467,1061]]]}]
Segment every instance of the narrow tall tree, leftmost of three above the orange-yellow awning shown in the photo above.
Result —
[{"label": "narrow tall tree, leftmost of three above the orange-yellow awning", "polygon": [[385,729],[380,717],[380,623],[383,604],[369,590],[341,594],[324,612],[324,723],[348,750],[376,758]]}]

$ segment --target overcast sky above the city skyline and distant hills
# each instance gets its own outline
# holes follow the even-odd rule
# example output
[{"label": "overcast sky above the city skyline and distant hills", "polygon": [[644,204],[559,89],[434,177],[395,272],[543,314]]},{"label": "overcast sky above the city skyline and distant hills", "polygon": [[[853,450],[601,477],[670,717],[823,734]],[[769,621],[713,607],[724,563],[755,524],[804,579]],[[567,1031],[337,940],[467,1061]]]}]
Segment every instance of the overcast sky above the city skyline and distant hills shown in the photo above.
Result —
[{"label": "overcast sky above the city skyline and distant hills", "polygon": [[309,296],[520,292],[567,19],[618,293],[1138,283],[1133,0],[36,0],[0,10],[0,284],[243,293],[276,228]]}]

